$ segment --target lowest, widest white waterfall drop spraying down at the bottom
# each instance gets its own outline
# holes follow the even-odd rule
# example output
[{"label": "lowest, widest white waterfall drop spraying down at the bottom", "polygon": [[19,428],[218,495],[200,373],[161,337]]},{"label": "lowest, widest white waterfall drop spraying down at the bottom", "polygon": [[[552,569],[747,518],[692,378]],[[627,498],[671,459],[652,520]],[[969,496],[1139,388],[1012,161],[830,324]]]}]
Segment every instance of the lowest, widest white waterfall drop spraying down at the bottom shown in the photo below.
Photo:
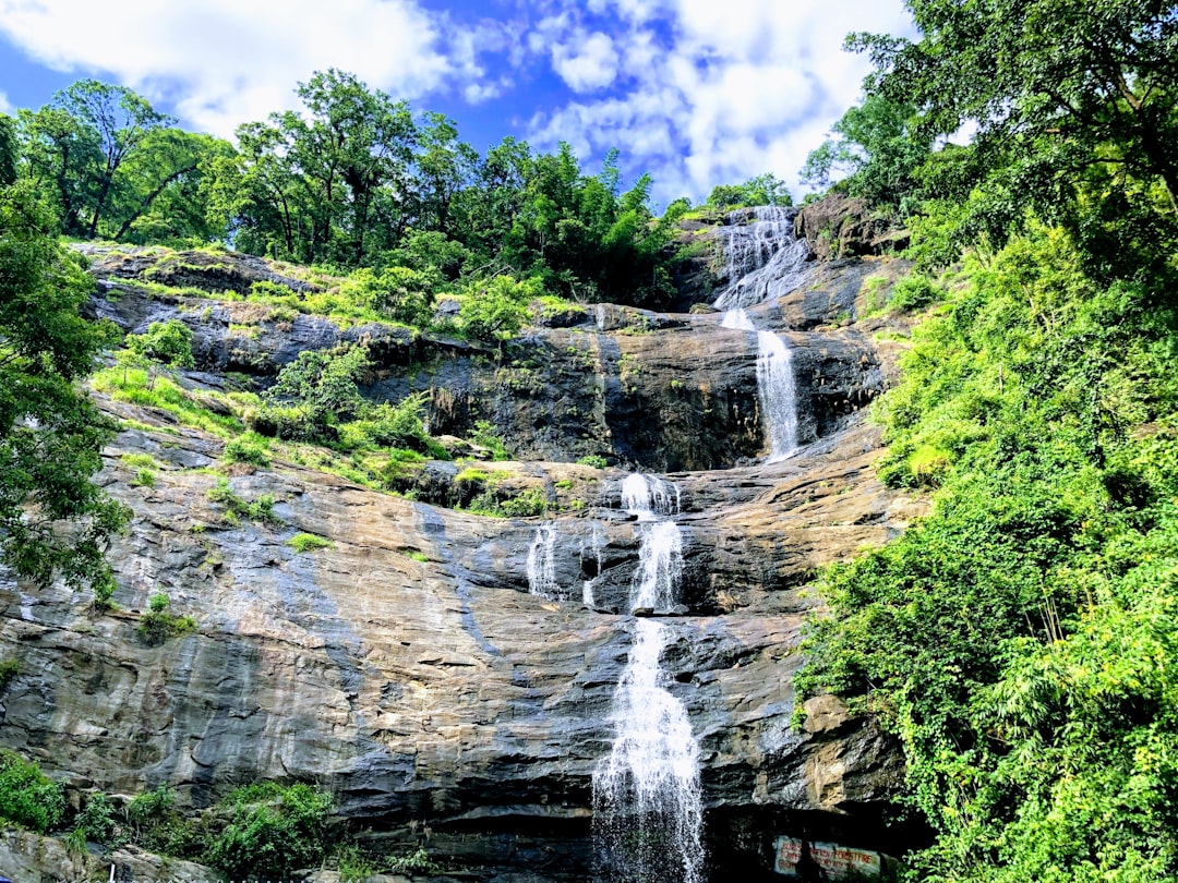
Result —
[{"label": "lowest, widest white waterfall drop spraying down at the bottom", "polygon": [[634,623],[614,692],[614,746],[593,776],[594,834],[609,881],[702,883],[700,746],[659,658],[667,626]]}]

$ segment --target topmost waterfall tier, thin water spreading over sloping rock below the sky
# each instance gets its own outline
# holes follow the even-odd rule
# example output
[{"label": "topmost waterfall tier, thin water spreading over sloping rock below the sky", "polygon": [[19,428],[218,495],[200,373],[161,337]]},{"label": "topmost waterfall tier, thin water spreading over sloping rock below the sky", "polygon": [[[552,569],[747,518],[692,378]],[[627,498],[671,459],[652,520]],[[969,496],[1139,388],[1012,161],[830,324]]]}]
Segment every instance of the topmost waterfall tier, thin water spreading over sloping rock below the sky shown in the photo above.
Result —
[{"label": "topmost waterfall tier, thin water spreading over sloping rock below the sky", "polygon": [[720,228],[728,286],[713,306],[753,306],[788,294],[806,280],[809,245],[794,233],[796,214],[794,208],[760,206],[752,223]]}]

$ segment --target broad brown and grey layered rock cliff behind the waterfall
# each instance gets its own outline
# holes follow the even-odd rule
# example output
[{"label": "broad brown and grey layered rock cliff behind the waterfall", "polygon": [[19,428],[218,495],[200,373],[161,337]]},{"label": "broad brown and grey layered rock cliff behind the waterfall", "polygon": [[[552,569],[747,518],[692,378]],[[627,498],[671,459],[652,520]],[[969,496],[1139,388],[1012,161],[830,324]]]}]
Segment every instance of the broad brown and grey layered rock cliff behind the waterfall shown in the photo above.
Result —
[{"label": "broad brown and grey layered rock cliff behind the waterfall", "polygon": [[[234,524],[207,493],[219,439],[95,393],[133,426],[99,476],[134,513],[111,553],[118,608],[95,615],[62,585],[0,580],[0,655],[20,660],[0,695],[0,744],[73,789],[168,782],[193,808],[259,778],[317,782],[344,824],[389,845],[428,837],[468,878],[587,879],[590,781],[609,752],[634,622],[618,612],[638,558],[620,484],[641,470],[670,473],[681,492],[683,606],[666,620],[662,666],[700,744],[716,878],[772,878],[781,834],[888,845],[880,809],[902,775],[893,746],[829,699],[803,729],[790,723],[814,604],[802,586],[920,511],[876,480],[880,442],[861,419],[889,370],[855,320],[879,267],[827,266],[750,310],[795,353],[805,446],[769,464],[755,341],[719,313],[589,307],[535,327],[499,360],[464,341],[257,308],[243,334],[247,301],[148,294],[123,281],[145,267],[95,259],[95,316],[125,331],[166,318],[193,330],[193,389],[227,371],[265,384],[303,348],[376,341],[366,394],[430,391],[436,434],[490,420],[518,459],[496,464],[505,480],[577,505],[487,518],[443,505],[452,464],[423,470],[410,499],[276,460],[231,471],[240,498],[276,500],[272,519]],[[260,261],[223,263],[220,287],[282,278]],[[184,284],[209,281],[184,267]],[[144,454],[158,466],[151,486],[128,465]],[[585,454],[611,465],[574,463]],[[542,524],[555,533],[560,598],[529,593]],[[326,543],[296,551],[297,533]],[[159,591],[196,633],[144,643],[135,626]],[[18,839],[0,842],[0,868],[28,849]],[[49,865],[44,879],[68,877]]]}]

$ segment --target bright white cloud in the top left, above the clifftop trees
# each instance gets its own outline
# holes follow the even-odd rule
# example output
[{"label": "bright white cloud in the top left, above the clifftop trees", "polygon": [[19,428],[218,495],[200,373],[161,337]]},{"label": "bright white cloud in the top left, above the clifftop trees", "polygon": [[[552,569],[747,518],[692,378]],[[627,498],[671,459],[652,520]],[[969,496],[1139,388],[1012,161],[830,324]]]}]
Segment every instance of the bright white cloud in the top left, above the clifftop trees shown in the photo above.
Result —
[{"label": "bright white cloud in the top left, above the clifftop trees", "polygon": [[[227,135],[296,104],[293,85],[338,67],[395,98],[474,79],[474,51],[413,0],[0,0],[0,32],[60,71],[113,74],[190,125]],[[449,36],[449,34],[446,35]]]}]

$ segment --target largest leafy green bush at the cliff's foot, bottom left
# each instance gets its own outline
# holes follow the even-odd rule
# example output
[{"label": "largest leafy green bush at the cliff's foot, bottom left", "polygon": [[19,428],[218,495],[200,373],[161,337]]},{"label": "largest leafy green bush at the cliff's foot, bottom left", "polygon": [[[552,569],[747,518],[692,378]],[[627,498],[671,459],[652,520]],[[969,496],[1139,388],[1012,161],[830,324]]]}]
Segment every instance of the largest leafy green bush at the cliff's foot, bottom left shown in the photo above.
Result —
[{"label": "largest leafy green bush at the cliff's foot, bottom left", "polygon": [[312,785],[246,785],[221,801],[219,811],[227,821],[206,859],[230,878],[283,878],[317,864],[326,851],[331,796]]}]

